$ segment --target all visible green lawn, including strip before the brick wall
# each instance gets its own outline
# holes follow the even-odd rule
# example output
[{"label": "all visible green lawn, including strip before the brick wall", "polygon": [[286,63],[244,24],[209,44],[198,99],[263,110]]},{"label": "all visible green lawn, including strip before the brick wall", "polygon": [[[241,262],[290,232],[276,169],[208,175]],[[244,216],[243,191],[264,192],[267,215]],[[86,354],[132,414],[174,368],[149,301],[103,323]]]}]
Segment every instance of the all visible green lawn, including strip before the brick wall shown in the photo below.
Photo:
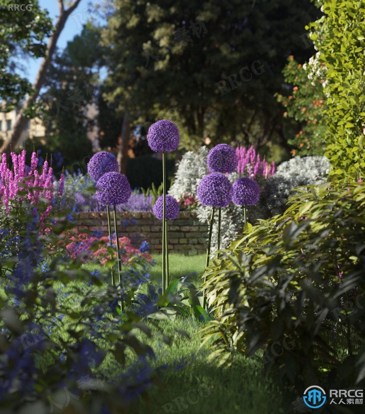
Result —
[{"label": "all visible green lawn, including strip before the brick wall", "polygon": [[[154,255],[154,266],[151,268],[150,279],[155,286],[161,286],[162,256]],[[170,280],[192,275],[200,286],[199,274],[205,267],[205,255],[183,256],[170,254]],[[99,270],[103,286],[108,285],[108,270],[104,266],[84,264],[82,269]],[[82,271],[82,269],[80,271]],[[194,280],[192,280],[194,281]],[[90,289],[86,282],[75,280],[67,286],[55,281],[53,285],[62,307],[77,308],[83,292]],[[96,287],[100,289],[100,287]],[[66,294],[66,295],[65,295]],[[60,330],[54,335],[64,337],[67,322],[60,324]],[[191,414],[221,413],[245,414],[278,413],[283,404],[283,395],[277,381],[272,377],[265,379],[262,362],[259,358],[246,358],[235,355],[229,366],[218,366],[216,359],[209,359],[209,343],[200,346],[199,331],[204,326],[191,318],[176,318],[174,321],[161,321],[157,327],[146,320],[152,327],[154,335],[147,338],[138,333],[138,337],[149,344],[154,350],[154,358],[149,363],[159,369],[159,375],[147,392],[147,400],[139,397],[131,407],[134,413],[165,413],[186,412]],[[181,335],[181,331],[186,332]],[[162,335],[170,337],[171,343],[166,344]],[[137,362],[137,357],[127,351],[127,368]],[[44,360],[43,363],[51,363]],[[120,366],[111,353],[108,353],[100,370],[118,380],[118,374],[125,368]],[[286,402],[294,400],[285,398]]]}]

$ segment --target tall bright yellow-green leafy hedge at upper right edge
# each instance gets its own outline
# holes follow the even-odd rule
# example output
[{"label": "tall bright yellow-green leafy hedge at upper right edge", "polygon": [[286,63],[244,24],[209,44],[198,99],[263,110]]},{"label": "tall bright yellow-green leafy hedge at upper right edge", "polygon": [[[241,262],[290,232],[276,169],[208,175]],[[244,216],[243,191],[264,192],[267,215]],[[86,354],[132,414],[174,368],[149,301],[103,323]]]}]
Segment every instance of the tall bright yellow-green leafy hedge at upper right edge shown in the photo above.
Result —
[{"label": "tall bright yellow-green leafy hedge at upper right edge", "polygon": [[309,28],[318,61],[327,68],[325,155],[333,174],[355,179],[365,172],[365,2],[324,0],[321,4],[325,16]]}]

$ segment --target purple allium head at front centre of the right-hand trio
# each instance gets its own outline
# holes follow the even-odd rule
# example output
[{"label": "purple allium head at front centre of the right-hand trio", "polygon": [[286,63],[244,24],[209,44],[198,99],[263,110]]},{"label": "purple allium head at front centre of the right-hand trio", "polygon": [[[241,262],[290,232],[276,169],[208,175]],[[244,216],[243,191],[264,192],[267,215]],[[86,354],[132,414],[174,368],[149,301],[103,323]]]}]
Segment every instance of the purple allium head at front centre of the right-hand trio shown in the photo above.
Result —
[{"label": "purple allium head at front centre of the right-hand trio", "polygon": [[203,206],[226,207],[232,201],[232,184],[221,173],[211,173],[202,178],[197,197]]}]

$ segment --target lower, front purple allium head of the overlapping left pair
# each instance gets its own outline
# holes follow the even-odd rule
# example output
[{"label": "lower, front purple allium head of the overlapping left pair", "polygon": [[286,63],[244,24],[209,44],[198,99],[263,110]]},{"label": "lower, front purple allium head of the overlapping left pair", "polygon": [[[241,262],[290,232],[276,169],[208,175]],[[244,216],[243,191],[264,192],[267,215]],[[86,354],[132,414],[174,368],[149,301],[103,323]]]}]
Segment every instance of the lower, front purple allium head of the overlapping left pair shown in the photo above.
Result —
[{"label": "lower, front purple allium head of the overlapping left pair", "polygon": [[96,198],[102,206],[124,204],[132,193],[128,178],[120,173],[106,173],[96,183]]}]

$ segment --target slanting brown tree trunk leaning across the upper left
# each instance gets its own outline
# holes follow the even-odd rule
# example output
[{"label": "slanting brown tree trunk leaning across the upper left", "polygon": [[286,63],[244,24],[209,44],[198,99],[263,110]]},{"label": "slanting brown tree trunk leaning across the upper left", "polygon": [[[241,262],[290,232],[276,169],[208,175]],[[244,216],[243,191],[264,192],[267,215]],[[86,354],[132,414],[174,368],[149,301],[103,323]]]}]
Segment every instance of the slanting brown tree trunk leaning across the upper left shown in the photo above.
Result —
[{"label": "slanting brown tree trunk leaning across the upper left", "polygon": [[7,154],[9,154],[10,146],[12,148],[15,148],[17,146],[17,143],[19,142],[19,139],[20,139],[20,135],[22,134],[22,131],[24,130],[24,127],[27,122],[27,119],[24,118],[23,114],[26,111],[26,109],[31,107],[32,104],[38,98],[39,91],[41,90],[44,80],[46,79],[47,70],[51,63],[52,56],[56,48],[56,43],[58,41],[58,38],[60,37],[61,31],[65,26],[67,18],[76,9],[80,1],[81,0],[75,0],[72,3],[72,5],[67,10],[65,10],[63,7],[63,0],[58,0],[58,6],[60,8],[60,15],[58,16],[57,22],[55,24],[55,31],[51,34],[49,38],[46,56],[45,58],[43,58],[42,63],[39,66],[36,79],[34,80],[33,89],[35,90],[35,92],[33,95],[28,96],[28,98],[24,102],[24,105],[21,108],[19,108],[19,113],[17,115],[17,118],[15,119],[14,130],[12,132],[10,140],[7,142],[4,142],[4,144],[2,145],[2,148],[0,149],[0,153],[6,152]]}]

